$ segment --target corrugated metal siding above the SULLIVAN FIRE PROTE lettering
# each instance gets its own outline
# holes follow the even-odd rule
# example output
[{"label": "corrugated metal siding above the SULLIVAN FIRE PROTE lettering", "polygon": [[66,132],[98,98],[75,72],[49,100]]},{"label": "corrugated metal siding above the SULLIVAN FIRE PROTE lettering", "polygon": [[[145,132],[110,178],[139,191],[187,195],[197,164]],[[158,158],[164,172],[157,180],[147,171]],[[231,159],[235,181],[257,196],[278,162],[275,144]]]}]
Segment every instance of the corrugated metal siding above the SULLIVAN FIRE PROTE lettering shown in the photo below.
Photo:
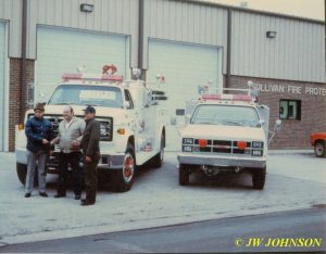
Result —
[{"label": "corrugated metal siding above the SULLIVAN FIRE PROTE lettering", "polygon": [[[277,31],[275,39],[267,30]],[[231,74],[325,81],[324,26],[303,21],[233,12]]]}]

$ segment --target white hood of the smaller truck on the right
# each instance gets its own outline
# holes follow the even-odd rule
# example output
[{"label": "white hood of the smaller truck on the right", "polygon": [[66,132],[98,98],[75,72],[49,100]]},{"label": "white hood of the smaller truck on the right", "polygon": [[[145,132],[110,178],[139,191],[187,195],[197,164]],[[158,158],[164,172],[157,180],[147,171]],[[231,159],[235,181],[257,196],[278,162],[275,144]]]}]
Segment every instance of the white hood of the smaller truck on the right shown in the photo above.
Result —
[{"label": "white hood of the smaller truck on the right", "polygon": [[226,125],[188,125],[181,131],[181,137],[220,140],[265,141],[265,132],[263,128]]}]

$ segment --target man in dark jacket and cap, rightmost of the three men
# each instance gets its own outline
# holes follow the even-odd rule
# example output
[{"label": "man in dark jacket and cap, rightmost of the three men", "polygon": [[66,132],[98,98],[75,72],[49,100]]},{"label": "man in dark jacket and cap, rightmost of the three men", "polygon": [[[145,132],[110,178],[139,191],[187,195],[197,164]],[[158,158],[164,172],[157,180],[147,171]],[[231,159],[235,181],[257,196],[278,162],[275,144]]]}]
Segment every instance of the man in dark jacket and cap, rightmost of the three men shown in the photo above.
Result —
[{"label": "man in dark jacket and cap, rightmost of the three men", "polygon": [[95,119],[95,107],[87,106],[85,110],[86,128],[82,139],[86,199],[82,200],[82,205],[93,205],[97,196],[97,166],[100,161],[100,123]]}]

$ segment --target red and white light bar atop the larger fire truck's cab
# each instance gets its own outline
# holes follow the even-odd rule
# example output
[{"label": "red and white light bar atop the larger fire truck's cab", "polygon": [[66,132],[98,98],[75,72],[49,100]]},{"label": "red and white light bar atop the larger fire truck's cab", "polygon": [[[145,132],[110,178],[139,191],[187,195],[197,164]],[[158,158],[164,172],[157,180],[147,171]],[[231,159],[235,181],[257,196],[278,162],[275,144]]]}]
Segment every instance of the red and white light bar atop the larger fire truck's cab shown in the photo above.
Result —
[{"label": "red and white light bar atop the larger fire truck's cab", "polygon": [[123,76],[120,75],[90,75],[83,73],[65,73],[62,75],[62,79],[64,81],[68,80],[95,80],[95,81],[112,81],[112,82],[121,82],[123,80]]}]

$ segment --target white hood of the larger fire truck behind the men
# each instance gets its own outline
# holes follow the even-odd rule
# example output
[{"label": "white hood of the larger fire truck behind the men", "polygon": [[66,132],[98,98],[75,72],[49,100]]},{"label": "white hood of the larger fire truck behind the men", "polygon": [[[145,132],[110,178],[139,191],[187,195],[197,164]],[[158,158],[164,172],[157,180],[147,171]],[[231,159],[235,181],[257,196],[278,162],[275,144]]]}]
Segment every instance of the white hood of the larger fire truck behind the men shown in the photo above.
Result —
[{"label": "white hood of the larger fire truck behind the men", "polygon": [[[62,115],[62,112],[66,105],[45,105],[45,115]],[[84,118],[85,105],[72,105],[77,117]],[[97,111],[97,117],[113,117],[114,125],[127,120],[128,114],[124,109],[95,106]],[[27,114],[34,114],[33,110],[27,111]]]}]

